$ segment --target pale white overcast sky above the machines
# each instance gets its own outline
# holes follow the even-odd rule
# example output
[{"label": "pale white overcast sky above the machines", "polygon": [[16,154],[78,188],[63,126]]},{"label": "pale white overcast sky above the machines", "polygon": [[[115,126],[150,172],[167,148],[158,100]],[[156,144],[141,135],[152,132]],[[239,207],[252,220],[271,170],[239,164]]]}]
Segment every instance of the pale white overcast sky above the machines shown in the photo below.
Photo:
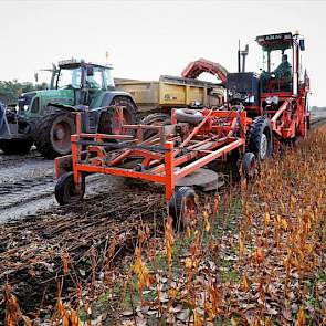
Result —
[{"label": "pale white overcast sky above the machines", "polygon": [[0,80],[33,81],[34,71],[71,56],[105,63],[115,76],[180,75],[193,60],[236,70],[238,40],[259,71],[260,34],[299,30],[312,104],[325,106],[326,1],[6,1],[0,0]]}]

